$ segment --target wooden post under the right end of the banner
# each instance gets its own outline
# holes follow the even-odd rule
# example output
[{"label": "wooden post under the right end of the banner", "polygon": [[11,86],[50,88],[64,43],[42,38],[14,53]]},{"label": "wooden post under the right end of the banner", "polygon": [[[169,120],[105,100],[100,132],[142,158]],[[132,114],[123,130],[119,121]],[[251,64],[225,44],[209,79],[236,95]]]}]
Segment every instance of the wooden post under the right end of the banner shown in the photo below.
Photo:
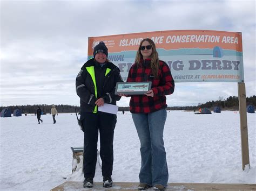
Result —
[{"label": "wooden post under the right end of the banner", "polygon": [[238,100],[240,113],[240,132],[241,132],[241,151],[242,151],[242,169],[245,165],[249,165],[249,144],[248,144],[248,129],[247,129],[247,114],[246,114],[246,94],[245,83],[238,83]]}]

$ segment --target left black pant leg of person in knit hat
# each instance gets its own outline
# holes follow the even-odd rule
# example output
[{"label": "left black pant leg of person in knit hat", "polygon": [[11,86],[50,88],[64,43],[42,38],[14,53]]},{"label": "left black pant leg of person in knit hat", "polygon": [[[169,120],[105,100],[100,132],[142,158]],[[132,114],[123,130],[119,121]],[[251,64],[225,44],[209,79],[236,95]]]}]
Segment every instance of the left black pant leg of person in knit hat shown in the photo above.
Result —
[{"label": "left black pant leg of person in knit hat", "polygon": [[84,126],[84,178],[94,178],[97,162],[98,114],[86,112],[82,120]]}]

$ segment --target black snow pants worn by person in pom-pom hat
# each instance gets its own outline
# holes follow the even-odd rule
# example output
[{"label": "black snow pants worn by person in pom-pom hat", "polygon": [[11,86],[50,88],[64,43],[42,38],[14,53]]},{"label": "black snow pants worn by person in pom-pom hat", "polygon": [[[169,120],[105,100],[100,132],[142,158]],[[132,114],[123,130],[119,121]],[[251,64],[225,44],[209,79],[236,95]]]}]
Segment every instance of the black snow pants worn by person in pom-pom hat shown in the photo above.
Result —
[{"label": "black snow pants worn by person in pom-pom hat", "polygon": [[97,162],[98,132],[100,135],[100,158],[102,175],[111,176],[113,170],[113,137],[117,116],[106,112],[82,112],[80,119],[84,126],[84,178],[94,178]]}]

